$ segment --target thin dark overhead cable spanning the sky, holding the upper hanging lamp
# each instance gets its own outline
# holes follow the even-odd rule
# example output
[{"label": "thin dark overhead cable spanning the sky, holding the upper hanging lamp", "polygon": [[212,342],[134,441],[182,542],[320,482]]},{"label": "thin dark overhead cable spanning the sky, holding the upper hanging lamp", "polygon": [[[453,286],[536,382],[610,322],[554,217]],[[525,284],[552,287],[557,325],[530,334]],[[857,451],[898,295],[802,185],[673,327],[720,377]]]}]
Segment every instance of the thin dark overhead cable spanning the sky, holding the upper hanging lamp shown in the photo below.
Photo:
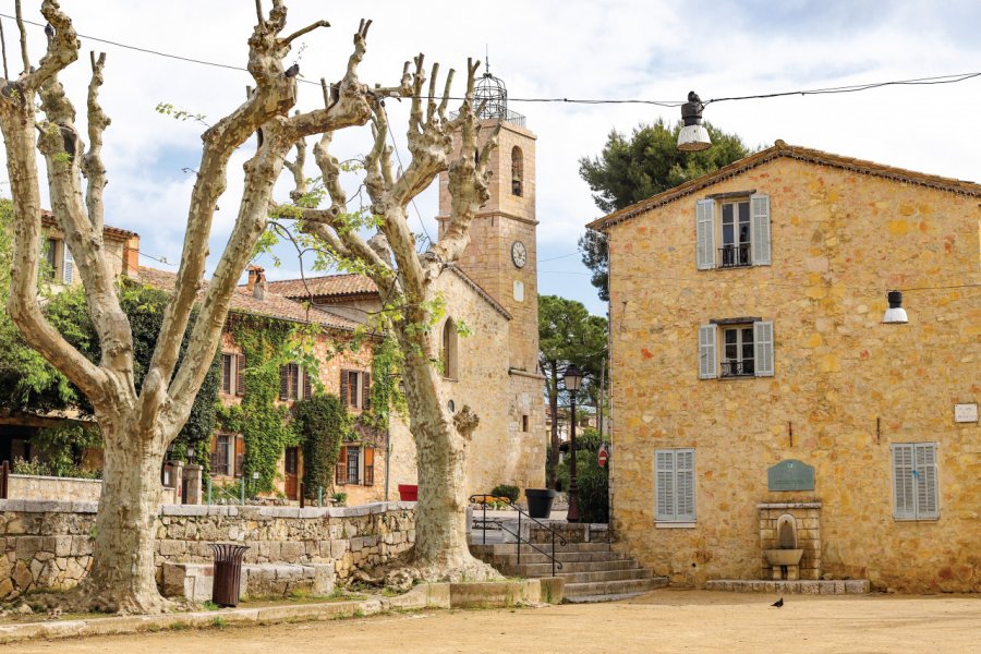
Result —
[{"label": "thin dark overhead cable spanning the sky, holding the upper hanging lamp", "polygon": [[[15,20],[14,16],[5,13],[0,13],[0,17]],[[38,23],[35,21],[24,20],[24,23],[34,25],[37,27],[44,27],[44,23]],[[97,36],[89,36],[81,33],[76,33],[80,38],[87,38],[88,40],[93,40],[100,44],[107,44],[110,46],[116,46],[117,48],[124,48],[126,50],[133,50],[136,52],[143,52],[145,55],[153,55],[155,57],[164,57],[167,59],[174,59],[177,61],[183,61],[186,63],[196,63],[198,65],[207,65],[211,68],[219,68],[231,71],[239,71],[247,73],[249,69],[240,66],[240,65],[231,65],[228,63],[218,63],[214,61],[207,61],[205,59],[196,59],[193,57],[184,57],[182,55],[173,55],[171,52],[164,52],[160,50],[152,50],[149,48],[142,48],[140,46],[131,46],[129,44],[123,44],[120,41],[100,38]],[[959,82],[966,82],[968,80],[972,80],[976,77],[981,77],[981,71],[970,72],[970,73],[954,73],[954,74],[945,74],[945,75],[932,75],[928,77],[913,77],[909,80],[892,80],[887,82],[869,82],[863,84],[850,84],[845,86],[829,86],[824,88],[810,88],[810,89],[798,89],[798,90],[782,90],[775,93],[764,93],[764,94],[751,94],[743,96],[729,96],[722,98],[712,98],[706,100],[704,104],[710,105],[712,102],[724,102],[731,100],[756,100],[756,99],[768,99],[768,98],[778,98],[778,97],[787,97],[787,96],[810,96],[810,95],[831,95],[831,94],[845,94],[845,93],[859,93],[862,90],[870,90],[874,88],[882,88],[885,86],[933,86],[938,84],[957,84]],[[315,82],[313,80],[304,80],[302,77],[298,77],[298,82],[302,82],[303,84],[312,84],[315,86],[319,86],[319,82]],[[405,99],[415,99],[414,96],[401,96]],[[428,96],[422,97],[420,99],[428,99]],[[451,100],[464,100],[464,97],[449,97]],[[509,97],[508,101],[510,102],[536,102],[536,104],[567,104],[567,105],[654,105],[657,107],[668,107],[668,108],[677,108],[685,104],[686,100],[647,100],[641,98],[598,98],[598,99],[590,99],[590,98],[565,98],[565,97],[550,97],[550,98],[521,98],[521,97]]]}]

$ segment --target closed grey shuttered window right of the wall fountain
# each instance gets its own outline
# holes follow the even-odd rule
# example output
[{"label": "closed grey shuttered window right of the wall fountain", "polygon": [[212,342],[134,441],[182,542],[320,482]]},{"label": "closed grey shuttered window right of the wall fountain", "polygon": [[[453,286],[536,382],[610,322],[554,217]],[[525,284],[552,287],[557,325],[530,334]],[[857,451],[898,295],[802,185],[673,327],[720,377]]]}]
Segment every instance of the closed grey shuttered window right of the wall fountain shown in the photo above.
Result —
[{"label": "closed grey shuttered window right of the wall fountain", "polygon": [[893,445],[893,498],[896,520],[936,520],[940,504],[935,443]]}]

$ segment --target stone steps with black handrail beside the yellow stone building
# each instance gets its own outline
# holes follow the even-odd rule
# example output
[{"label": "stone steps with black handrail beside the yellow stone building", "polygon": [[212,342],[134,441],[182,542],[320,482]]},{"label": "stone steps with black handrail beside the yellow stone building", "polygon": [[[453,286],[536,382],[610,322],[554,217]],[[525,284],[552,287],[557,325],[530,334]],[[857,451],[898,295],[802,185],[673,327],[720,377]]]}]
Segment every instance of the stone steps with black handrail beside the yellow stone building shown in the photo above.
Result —
[{"label": "stone steps with black handrail beside the yellow stone building", "polygon": [[[516,525],[517,526],[517,525]],[[614,552],[607,540],[605,524],[552,523],[568,544],[556,543],[555,576],[566,581],[567,602],[610,602],[632,597],[667,585],[664,577],[654,577],[651,570],[629,555]],[[523,530],[522,540],[531,540],[535,547],[552,554],[552,534],[533,525]],[[480,543],[480,532],[473,534]],[[526,543],[521,544],[519,562],[517,543],[472,544],[474,556],[487,561],[509,577],[552,577],[552,559]]]}]

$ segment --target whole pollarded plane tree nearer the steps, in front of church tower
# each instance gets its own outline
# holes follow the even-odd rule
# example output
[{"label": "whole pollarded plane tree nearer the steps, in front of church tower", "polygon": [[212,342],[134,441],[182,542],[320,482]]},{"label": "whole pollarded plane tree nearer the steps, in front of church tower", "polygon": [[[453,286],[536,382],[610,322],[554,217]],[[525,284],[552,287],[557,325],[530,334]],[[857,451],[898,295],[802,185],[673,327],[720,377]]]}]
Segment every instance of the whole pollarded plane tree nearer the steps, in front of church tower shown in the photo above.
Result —
[{"label": "whole pollarded plane tree nearer the steps, in front of church tower", "polygon": [[[470,225],[489,198],[489,157],[497,145],[500,125],[481,135],[474,107],[474,75],[480,62],[468,60],[467,92],[455,117],[447,114],[453,71],[437,88],[439,65],[434,64],[426,88],[423,56],[415,58],[414,71],[405,64],[403,85],[411,87],[408,147],[411,160],[404,169],[392,164],[387,145],[388,116],[384,99],[372,104],[374,146],[364,157],[363,184],[370,202],[349,206],[340,183],[342,165],[329,153],[330,134],[314,145],[314,159],[323,187],[330,201],[327,208],[310,204],[302,173],[305,148],[298,144],[295,161],[289,162],[296,189],[294,204],[275,206],[278,219],[293,219],[294,227],[308,237],[308,244],[349,270],[362,271],[383,292],[379,327],[393,332],[401,353],[401,376],[410,431],[415,443],[419,472],[419,505],[415,545],[407,565],[395,565],[388,581],[404,585],[415,579],[481,580],[499,573],[475,559],[467,543],[465,461],[470,438],[477,426],[469,407],[451,413],[440,400],[439,337],[433,329],[441,315],[444,299],[437,280],[462,255],[470,242]],[[403,96],[404,97],[404,96]],[[325,98],[329,94],[325,93]],[[455,134],[459,133],[458,147]],[[436,243],[419,251],[409,227],[408,207],[440,172],[448,171],[451,214]],[[351,201],[350,204],[354,204]],[[367,229],[366,229],[367,228]],[[365,238],[371,229],[376,233]]]}]

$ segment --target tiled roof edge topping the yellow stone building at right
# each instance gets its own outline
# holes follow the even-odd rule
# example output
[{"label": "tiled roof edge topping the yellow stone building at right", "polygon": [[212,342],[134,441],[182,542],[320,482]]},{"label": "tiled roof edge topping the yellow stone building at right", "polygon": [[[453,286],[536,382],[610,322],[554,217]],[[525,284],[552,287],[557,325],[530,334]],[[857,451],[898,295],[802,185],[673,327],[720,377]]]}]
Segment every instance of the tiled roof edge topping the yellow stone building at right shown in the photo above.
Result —
[{"label": "tiled roof edge topping the yellow stone building at right", "polygon": [[695,193],[699,190],[704,189],[705,186],[714,184],[718,180],[746,172],[747,170],[750,170],[779,157],[790,157],[800,161],[808,161],[810,164],[818,164],[821,166],[831,166],[833,168],[840,168],[862,174],[886,178],[895,180],[897,182],[919,184],[921,186],[929,186],[931,189],[940,189],[942,191],[949,191],[952,193],[960,193],[974,197],[981,196],[981,184],[977,184],[974,182],[966,182],[962,180],[955,180],[952,178],[944,178],[935,174],[927,174],[923,172],[905,170],[903,168],[894,168],[892,166],[885,166],[883,164],[876,164],[874,161],[865,161],[863,159],[843,157],[840,155],[834,155],[822,150],[801,147],[799,145],[789,145],[778,140],[773,145],[773,147],[768,147],[754,155],[750,155],[749,157],[729,164],[728,166],[719,168],[713,173],[700,177],[689,182],[685,182],[683,184],[675,186],[674,189],[668,189],[663,193],[658,193],[657,195],[649,197],[647,199],[643,199],[639,203],[632,204],[629,207],[623,207],[622,209],[614,211],[608,216],[605,216],[597,220],[593,220],[592,222],[588,223],[586,227],[589,227],[590,229],[604,231],[613,227],[614,225],[623,222],[625,220],[630,220],[631,218],[635,218],[637,216],[645,211],[665,205],[669,202],[674,202],[675,199],[678,199],[686,195]]}]

